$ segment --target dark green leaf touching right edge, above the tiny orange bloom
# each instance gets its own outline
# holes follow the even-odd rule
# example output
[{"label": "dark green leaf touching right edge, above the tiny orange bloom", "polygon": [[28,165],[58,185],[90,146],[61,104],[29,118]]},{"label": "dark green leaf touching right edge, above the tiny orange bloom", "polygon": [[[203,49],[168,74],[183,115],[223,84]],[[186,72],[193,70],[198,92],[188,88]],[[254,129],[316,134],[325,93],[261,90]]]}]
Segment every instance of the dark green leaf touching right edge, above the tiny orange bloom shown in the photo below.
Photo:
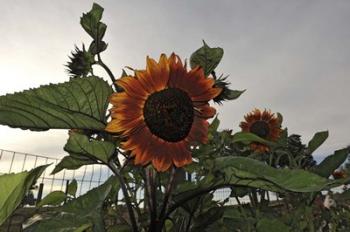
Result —
[{"label": "dark green leaf touching right edge, above the tiny orange bloom", "polygon": [[327,156],[319,165],[314,167],[313,171],[320,176],[328,178],[335,169],[345,162],[348,154],[348,148],[337,150],[333,155]]}]

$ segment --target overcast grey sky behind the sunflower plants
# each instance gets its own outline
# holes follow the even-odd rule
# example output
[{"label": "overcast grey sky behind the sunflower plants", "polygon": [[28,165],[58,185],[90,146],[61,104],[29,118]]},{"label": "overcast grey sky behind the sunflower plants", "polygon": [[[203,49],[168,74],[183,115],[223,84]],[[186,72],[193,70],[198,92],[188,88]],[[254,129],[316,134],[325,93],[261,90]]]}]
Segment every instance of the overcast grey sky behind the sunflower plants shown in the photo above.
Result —
[{"label": "overcast grey sky behind the sunflower plants", "polygon": [[[247,89],[218,107],[222,128],[238,131],[255,107],[284,116],[284,126],[307,142],[330,138],[318,159],[350,144],[350,1],[96,1],[105,8],[109,43],[103,59],[116,75],[145,57],[202,45],[224,48],[217,73]],[[89,44],[79,26],[87,0],[0,0],[0,95],[68,79],[64,64],[74,44]],[[105,75],[102,70],[98,72]],[[67,131],[29,132],[0,126],[0,148],[64,155]]]}]

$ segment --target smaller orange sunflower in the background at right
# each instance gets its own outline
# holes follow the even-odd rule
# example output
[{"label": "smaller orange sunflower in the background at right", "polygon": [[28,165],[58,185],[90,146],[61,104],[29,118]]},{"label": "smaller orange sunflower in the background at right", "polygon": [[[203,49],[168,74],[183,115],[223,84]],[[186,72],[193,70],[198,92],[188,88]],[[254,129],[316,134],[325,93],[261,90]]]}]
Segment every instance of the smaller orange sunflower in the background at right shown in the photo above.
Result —
[{"label": "smaller orange sunflower in the background at right", "polygon": [[[281,119],[269,110],[263,112],[255,109],[244,116],[245,121],[240,123],[243,132],[253,133],[263,139],[276,141],[281,134]],[[253,151],[263,153],[269,151],[265,144],[253,142],[250,145]]]}]

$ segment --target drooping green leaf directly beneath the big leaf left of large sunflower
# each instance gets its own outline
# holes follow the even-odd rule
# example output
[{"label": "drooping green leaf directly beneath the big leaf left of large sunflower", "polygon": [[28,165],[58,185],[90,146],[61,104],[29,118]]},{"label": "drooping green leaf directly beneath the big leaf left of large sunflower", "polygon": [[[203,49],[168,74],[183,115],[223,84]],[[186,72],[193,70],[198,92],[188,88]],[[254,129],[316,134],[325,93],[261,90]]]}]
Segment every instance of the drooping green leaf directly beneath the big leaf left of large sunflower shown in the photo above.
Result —
[{"label": "drooping green leaf directly beneath the big leaf left of large sunflower", "polygon": [[108,163],[115,151],[115,145],[107,141],[89,140],[89,137],[79,133],[69,136],[64,150],[69,153],[55,167],[52,174],[62,169],[78,169],[83,165]]}]

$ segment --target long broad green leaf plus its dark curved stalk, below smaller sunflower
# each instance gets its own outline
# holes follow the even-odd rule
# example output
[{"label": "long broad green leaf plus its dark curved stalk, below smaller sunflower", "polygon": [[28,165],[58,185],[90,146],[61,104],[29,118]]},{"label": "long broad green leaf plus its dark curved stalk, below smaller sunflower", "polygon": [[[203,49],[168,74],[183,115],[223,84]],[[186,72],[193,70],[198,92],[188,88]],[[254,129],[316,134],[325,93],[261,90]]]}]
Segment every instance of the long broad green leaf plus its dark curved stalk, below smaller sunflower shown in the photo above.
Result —
[{"label": "long broad green leaf plus its dark curved stalk, below smaller sunflower", "polygon": [[301,169],[276,169],[246,157],[226,156],[213,162],[213,174],[207,174],[196,184],[175,192],[171,210],[199,195],[226,187],[245,186],[272,192],[318,192],[343,184]]}]

